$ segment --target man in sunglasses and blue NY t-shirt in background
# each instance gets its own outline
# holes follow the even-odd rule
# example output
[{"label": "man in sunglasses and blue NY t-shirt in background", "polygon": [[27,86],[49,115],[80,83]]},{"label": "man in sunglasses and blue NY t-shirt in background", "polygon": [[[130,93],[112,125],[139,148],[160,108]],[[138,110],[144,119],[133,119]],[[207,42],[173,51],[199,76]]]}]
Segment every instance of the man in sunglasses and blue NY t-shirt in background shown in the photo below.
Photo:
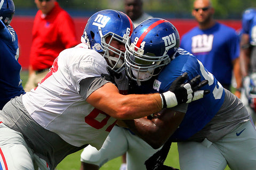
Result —
[{"label": "man in sunglasses and blue NY t-shirt in background", "polygon": [[182,36],[180,47],[195,55],[228,90],[231,90],[234,72],[235,95],[240,98],[242,76],[239,65],[239,37],[235,29],[215,21],[213,14],[214,8],[210,0],[194,1],[192,15],[198,26]]}]

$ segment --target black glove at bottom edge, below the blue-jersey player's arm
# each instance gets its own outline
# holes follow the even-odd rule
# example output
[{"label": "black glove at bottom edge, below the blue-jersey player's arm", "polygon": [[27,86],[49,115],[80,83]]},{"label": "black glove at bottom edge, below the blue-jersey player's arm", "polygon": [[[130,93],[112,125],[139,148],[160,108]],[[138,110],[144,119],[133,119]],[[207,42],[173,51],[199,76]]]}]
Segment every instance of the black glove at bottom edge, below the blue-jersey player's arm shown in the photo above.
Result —
[{"label": "black glove at bottom edge, below the blue-jersey player's arm", "polygon": [[179,170],[170,166],[164,165],[165,159],[171,147],[171,140],[167,140],[163,147],[158,150],[153,156],[145,162],[147,170]]}]

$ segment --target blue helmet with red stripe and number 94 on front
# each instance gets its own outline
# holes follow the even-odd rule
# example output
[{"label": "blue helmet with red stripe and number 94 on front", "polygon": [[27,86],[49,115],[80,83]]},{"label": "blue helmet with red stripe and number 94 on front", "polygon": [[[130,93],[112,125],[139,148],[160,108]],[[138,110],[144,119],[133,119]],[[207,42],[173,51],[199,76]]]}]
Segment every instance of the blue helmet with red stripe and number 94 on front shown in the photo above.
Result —
[{"label": "blue helmet with red stripe and number 94 on front", "polygon": [[129,77],[147,81],[170,63],[180,45],[180,36],[172,23],[160,18],[140,23],[127,41],[125,67]]}]

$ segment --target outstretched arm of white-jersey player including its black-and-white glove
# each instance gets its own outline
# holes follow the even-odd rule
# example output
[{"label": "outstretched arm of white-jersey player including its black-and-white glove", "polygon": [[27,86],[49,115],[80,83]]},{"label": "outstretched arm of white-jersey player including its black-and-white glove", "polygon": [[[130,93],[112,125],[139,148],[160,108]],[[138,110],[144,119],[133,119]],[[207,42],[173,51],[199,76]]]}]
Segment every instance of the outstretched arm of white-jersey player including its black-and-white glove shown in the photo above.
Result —
[{"label": "outstretched arm of white-jersey player including its black-and-white glove", "polygon": [[173,81],[169,91],[148,95],[121,95],[113,83],[106,83],[93,91],[86,101],[117,119],[131,120],[145,117],[160,112],[163,108],[189,103],[209,93],[209,90],[198,90],[207,84],[207,80],[200,82],[200,77],[196,77],[189,83],[183,84],[186,78],[187,73]]}]

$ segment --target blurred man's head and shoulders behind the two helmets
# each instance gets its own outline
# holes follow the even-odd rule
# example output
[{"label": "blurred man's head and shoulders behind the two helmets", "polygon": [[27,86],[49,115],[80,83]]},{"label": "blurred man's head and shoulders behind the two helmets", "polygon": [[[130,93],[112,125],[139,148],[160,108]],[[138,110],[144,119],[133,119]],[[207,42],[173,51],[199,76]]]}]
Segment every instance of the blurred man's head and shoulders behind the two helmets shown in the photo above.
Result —
[{"label": "blurred man's head and shoulders behind the two helmets", "polygon": [[124,0],[124,11],[132,20],[134,27],[137,27],[142,21],[153,18],[143,11],[142,0]]}]

